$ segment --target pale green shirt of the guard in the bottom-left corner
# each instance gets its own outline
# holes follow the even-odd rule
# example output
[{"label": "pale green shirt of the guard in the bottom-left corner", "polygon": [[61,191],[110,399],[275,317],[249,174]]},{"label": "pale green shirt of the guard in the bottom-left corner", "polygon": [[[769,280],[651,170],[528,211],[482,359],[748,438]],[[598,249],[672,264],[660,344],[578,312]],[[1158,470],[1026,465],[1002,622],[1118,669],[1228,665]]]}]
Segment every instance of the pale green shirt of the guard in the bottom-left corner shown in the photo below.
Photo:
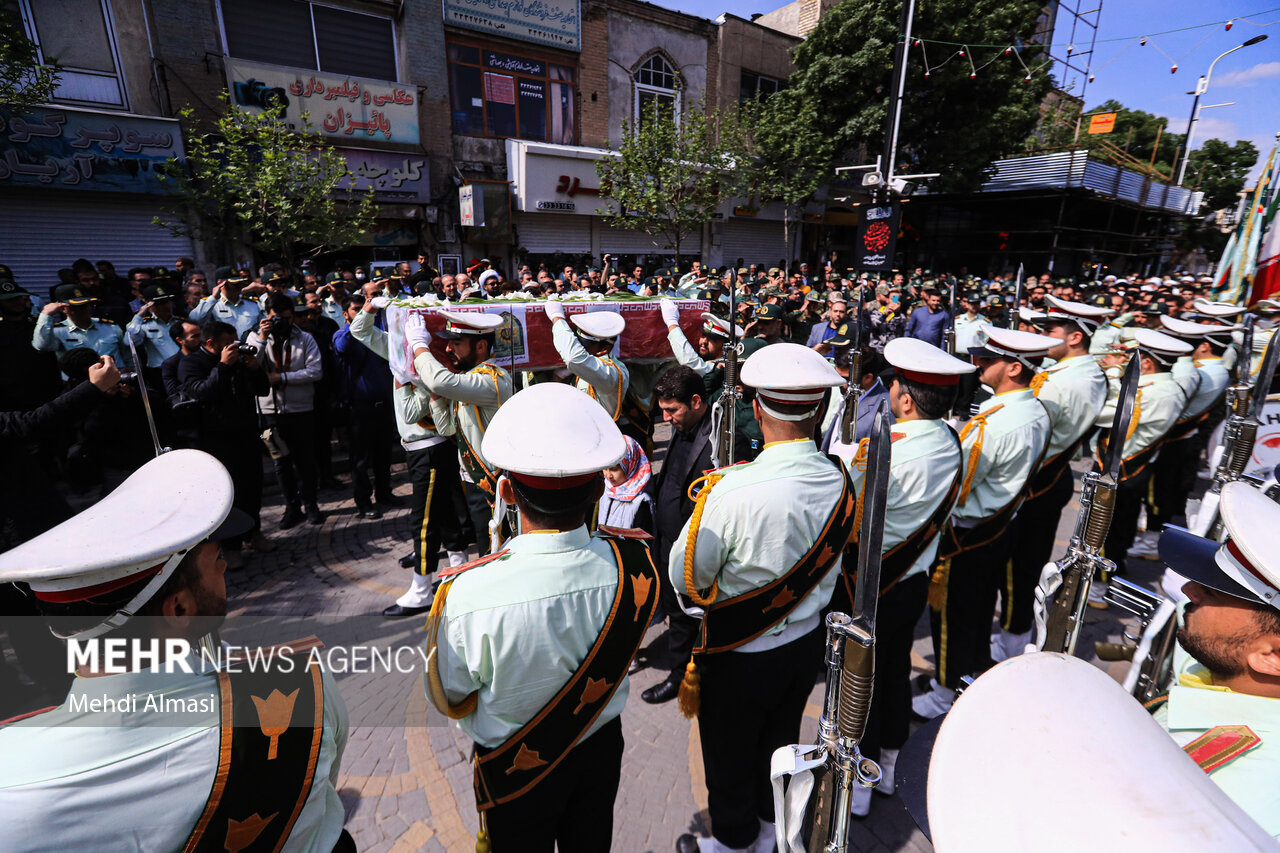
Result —
[{"label": "pale green shirt of the guard in the bottom-left corner", "polygon": [[[214,786],[220,742],[216,675],[200,672],[198,662],[192,669],[77,678],[58,708],[0,729],[0,847],[8,853],[183,849]],[[332,678],[321,678],[320,754],[283,845],[289,853],[330,853],[342,833],[337,784],[347,707]],[[134,711],[76,704],[131,695]],[[147,697],[193,699],[211,710],[166,720],[147,710]]]}]

